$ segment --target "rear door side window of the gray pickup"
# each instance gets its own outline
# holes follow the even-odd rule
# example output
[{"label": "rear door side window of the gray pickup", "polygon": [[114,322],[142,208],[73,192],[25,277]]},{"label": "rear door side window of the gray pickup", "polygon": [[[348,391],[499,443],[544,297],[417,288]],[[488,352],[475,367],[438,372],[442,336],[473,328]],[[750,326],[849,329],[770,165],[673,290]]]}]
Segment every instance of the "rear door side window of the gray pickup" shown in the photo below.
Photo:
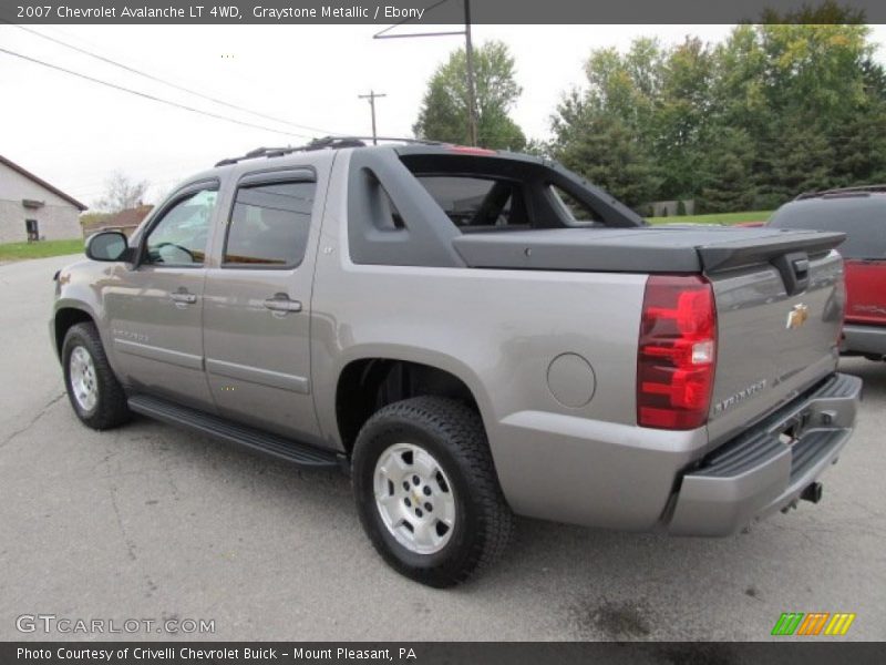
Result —
[{"label": "rear door side window of the gray pickup", "polygon": [[313,182],[240,186],[228,223],[223,265],[293,268],[305,258]]}]

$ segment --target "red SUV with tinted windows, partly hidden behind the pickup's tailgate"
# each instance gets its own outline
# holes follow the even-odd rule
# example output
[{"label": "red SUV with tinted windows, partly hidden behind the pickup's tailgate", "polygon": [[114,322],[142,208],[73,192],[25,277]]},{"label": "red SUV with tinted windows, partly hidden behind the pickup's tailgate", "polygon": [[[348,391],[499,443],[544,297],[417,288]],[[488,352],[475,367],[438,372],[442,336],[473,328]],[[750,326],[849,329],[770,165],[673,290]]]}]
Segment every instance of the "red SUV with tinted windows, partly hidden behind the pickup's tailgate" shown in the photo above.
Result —
[{"label": "red SUV with tinted windows, partly hidden behind the pickup's tailgate", "polygon": [[801,194],[769,226],[842,231],[846,262],[845,355],[886,359],[886,185]]}]

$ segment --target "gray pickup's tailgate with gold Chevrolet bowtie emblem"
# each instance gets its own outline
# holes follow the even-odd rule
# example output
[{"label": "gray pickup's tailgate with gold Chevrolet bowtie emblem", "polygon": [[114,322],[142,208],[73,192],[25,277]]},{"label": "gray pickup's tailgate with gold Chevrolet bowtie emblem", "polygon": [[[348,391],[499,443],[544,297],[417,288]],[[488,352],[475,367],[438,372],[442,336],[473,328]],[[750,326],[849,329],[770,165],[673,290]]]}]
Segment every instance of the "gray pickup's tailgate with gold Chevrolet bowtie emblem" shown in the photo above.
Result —
[{"label": "gray pickup's tailgate with gold Chevrolet bowtie emblem", "polygon": [[836,368],[843,234],[786,233],[699,247],[717,304],[708,430],[715,444]]}]

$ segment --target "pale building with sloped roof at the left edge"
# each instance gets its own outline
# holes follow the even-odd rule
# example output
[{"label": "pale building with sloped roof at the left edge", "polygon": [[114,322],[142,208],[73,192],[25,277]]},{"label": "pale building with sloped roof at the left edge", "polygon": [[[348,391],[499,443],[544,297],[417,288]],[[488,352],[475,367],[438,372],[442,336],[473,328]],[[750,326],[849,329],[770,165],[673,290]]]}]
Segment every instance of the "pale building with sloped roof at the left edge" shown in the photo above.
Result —
[{"label": "pale building with sloped roof at the left edge", "polygon": [[0,155],[0,243],[63,241],[81,236],[73,196]]}]

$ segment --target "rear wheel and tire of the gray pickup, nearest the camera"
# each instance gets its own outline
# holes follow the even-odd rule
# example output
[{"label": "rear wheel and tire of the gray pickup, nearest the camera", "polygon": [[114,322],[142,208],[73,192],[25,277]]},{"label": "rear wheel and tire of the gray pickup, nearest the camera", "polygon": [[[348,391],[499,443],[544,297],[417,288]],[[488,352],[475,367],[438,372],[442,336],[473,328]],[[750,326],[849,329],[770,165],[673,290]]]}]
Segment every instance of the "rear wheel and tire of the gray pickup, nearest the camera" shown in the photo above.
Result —
[{"label": "rear wheel and tire of the gray pickup, nearest the camera", "polygon": [[422,584],[464,582],[511,540],[483,421],[462,402],[418,397],[380,409],[360,430],[352,478],[375,550]]}]

